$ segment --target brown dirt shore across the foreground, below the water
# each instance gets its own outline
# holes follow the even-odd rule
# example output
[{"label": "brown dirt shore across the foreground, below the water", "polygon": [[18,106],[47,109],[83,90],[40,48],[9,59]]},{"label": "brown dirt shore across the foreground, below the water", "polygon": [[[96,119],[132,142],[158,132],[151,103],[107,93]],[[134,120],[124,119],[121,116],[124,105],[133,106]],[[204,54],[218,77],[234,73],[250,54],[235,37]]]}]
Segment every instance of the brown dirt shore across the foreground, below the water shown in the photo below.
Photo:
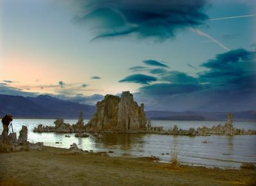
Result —
[{"label": "brown dirt shore across the foreground, below the water", "polygon": [[207,169],[44,147],[0,153],[0,185],[256,185],[256,170]]}]

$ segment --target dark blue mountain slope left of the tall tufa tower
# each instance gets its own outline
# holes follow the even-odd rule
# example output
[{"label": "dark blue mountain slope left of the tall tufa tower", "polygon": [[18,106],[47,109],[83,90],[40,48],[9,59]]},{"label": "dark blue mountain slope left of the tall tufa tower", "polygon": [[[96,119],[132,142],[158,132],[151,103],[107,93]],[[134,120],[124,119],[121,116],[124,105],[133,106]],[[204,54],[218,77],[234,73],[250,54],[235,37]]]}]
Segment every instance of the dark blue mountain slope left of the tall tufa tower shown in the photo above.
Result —
[{"label": "dark blue mountain slope left of the tall tufa tower", "polygon": [[0,117],[12,114],[15,118],[65,118],[77,119],[82,111],[84,118],[91,118],[96,111],[92,105],[79,104],[49,95],[36,98],[0,95]]}]

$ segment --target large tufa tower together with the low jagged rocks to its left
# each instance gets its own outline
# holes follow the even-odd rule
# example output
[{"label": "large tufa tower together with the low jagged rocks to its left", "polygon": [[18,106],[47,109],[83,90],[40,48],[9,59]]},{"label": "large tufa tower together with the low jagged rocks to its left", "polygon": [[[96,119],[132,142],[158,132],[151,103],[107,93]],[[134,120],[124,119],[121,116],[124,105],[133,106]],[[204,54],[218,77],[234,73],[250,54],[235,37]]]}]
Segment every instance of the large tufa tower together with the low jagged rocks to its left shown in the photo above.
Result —
[{"label": "large tufa tower together with the low jagged rocks to its left", "polygon": [[54,121],[55,127],[42,124],[33,132],[149,132],[152,130],[150,121],[144,112],[144,104],[134,102],[133,95],[124,91],[121,97],[106,95],[104,100],[97,102],[97,112],[84,125],[83,113],[80,113],[76,125],[64,123],[63,119]]}]

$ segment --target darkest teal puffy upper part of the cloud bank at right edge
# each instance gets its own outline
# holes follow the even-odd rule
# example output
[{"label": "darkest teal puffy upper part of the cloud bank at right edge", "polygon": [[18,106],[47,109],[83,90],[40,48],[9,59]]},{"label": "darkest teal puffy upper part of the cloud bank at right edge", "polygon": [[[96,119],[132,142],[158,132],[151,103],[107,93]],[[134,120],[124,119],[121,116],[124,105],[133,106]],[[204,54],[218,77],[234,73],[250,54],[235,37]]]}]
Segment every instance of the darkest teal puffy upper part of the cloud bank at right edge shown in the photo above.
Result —
[{"label": "darkest teal puffy upper part of the cloud bank at right edge", "polygon": [[244,49],[230,50],[216,55],[201,66],[207,68],[198,73],[199,81],[222,88],[242,88],[256,79],[256,52]]}]

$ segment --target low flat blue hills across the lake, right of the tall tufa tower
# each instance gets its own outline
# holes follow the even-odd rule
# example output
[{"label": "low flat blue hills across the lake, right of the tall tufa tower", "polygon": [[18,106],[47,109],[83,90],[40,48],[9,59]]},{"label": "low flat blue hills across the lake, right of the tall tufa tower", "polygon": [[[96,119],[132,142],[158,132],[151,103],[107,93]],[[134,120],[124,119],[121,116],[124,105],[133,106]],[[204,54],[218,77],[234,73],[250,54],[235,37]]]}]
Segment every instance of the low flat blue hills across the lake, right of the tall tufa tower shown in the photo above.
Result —
[{"label": "low flat blue hills across the lake, right of the tall tufa tower", "polygon": [[[235,121],[256,121],[256,111],[233,112]],[[227,121],[228,112],[171,112],[146,111],[151,120],[198,120],[198,121]]]}]

